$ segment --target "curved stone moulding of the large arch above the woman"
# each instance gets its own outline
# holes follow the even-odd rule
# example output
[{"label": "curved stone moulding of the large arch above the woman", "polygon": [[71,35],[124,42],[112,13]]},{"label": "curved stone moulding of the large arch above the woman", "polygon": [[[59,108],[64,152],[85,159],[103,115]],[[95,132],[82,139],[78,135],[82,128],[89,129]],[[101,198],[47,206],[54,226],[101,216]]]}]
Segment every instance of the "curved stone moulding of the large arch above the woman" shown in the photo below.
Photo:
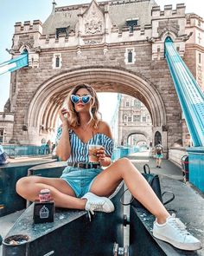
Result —
[{"label": "curved stone moulding of the large arch above the woman", "polygon": [[[76,84],[86,82],[98,92],[118,92],[139,99],[148,108],[153,127],[166,125],[166,111],[158,90],[143,75],[123,68],[89,67],[70,69],[43,82],[29,104],[29,135],[41,128],[54,128],[58,110]],[[31,137],[31,136],[30,136]]]}]

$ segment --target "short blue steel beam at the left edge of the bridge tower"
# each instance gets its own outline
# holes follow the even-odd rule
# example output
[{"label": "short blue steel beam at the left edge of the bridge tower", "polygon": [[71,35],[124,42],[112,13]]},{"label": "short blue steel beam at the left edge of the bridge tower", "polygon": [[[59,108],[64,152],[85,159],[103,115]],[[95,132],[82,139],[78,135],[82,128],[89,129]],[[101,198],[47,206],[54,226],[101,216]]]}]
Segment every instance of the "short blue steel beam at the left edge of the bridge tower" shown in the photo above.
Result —
[{"label": "short blue steel beam at the left edge of the bridge tower", "polygon": [[20,56],[11,59],[8,62],[3,62],[0,64],[0,75],[3,75],[6,72],[12,72],[16,69],[21,69],[22,67],[29,65],[29,56],[28,53],[24,52]]}]

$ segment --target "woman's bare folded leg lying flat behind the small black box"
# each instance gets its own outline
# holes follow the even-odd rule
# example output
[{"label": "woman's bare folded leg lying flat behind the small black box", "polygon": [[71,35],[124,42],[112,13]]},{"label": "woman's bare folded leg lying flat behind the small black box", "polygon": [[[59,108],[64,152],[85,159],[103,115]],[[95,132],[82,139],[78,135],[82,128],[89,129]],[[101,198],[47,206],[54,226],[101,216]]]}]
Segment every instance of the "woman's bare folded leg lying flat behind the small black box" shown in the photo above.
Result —
[{"label": "woman's bare folded leg lying flat behind the small black box", "polygon": [[43,178],[39,176],[23,177],[16,183],[16,192],[30,201],[38,199],[41,189],[48,188],[56,207],[84,209],[86,200],[76,198],[73,189],[58,178]]}]

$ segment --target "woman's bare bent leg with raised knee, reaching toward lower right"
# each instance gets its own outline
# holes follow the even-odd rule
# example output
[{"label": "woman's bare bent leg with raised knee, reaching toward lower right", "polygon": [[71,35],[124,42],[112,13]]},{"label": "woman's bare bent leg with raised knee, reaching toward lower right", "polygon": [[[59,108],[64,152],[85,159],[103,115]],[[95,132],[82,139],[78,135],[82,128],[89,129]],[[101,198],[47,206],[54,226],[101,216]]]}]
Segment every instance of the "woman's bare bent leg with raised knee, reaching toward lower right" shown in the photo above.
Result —
[{"label": "woman's bare bent leg with raised knee, reaching toward lower right", "polygon": [[127,158],[115,161],[112,166],[101,172],[92,183],[91,192],[99,196],[112,194],[119,182],[124,180],[131,194],[139,200],[150,213],[156,216],[158,223],[164,223],[169,213],[162,202],[139,173],[136,167]]}]

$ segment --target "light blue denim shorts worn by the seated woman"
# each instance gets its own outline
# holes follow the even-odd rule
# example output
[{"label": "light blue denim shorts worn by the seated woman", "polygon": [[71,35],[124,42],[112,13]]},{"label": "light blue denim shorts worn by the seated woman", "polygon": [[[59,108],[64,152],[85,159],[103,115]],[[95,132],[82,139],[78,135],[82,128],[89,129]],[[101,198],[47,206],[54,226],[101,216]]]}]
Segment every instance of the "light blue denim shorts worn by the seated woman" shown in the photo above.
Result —
[{"label": "light blue denim shorts worn by the seated woman", "polygon": [[92,182],[102,170],[102,168],[66,167],[61,174],[61,179],[66,181],[72,187],[76,197],[80,198],[90,191]]}]

